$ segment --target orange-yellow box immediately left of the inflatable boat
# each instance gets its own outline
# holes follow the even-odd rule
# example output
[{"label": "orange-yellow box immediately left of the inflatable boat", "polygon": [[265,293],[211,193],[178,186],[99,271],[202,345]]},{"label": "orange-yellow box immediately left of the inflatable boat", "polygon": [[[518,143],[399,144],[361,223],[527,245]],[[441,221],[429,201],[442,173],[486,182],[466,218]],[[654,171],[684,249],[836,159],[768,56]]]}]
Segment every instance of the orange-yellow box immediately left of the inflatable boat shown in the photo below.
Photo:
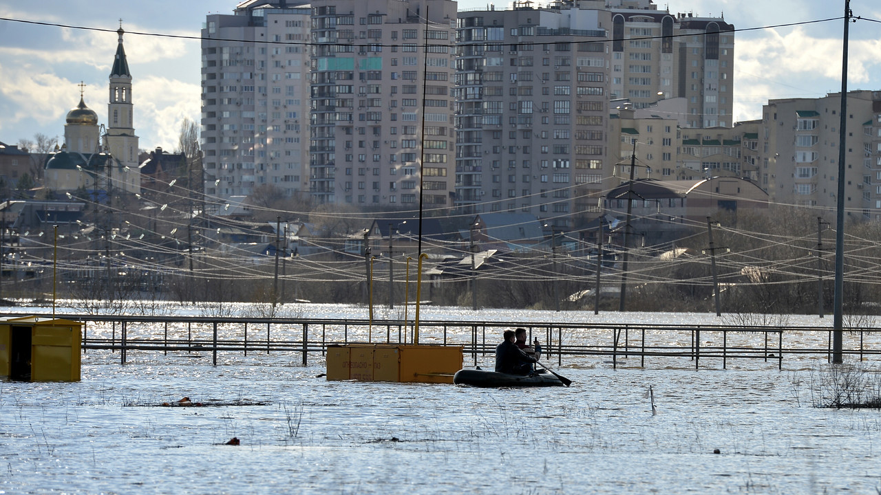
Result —
[{"label": "orange-yellow box immediately left of the inflatable boat", "polygon": [[462,369],[463,348],[440,345],[400,345],[400,381],[453,383],[453,375]]}]

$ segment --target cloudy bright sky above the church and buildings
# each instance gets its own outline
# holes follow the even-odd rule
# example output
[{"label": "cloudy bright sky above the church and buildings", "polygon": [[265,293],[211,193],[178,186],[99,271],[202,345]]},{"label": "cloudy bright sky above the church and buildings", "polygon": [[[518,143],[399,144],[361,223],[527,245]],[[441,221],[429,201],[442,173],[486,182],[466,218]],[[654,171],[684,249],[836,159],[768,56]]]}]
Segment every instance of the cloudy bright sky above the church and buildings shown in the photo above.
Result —
[{"label": "cloudy bright sky above the church and buildings", "polygon": [[[198,36],[208,14],[230,14],[236,1],[220,0],[0,0],[0,18],[115,31]],[[538,2],[541,4],[541,2]],[[486,1],[459,2],[460,10]],[[670,0],[659,10],[722,16],[737,29],[839,18],[803,26],[737,33],[734,65],[735,121],[757,119],[767,100],[817,98],[841,89],[844,0]],[[497,8],[507,7],[505,3]],[[881,21],[881,2],[852,0],[855,16]],[[116,33],[0,20],[0,142],[17,144],[41,133],[63,140],[64,117],[79,102],[107,122],[107,76]],[[127,34],[124,39],[135,104],[135,131],[146,150],[174,151],[186,117],[200,116],[199,41]],[[881,90],[881,23],[850,24],[848,89]]]}]

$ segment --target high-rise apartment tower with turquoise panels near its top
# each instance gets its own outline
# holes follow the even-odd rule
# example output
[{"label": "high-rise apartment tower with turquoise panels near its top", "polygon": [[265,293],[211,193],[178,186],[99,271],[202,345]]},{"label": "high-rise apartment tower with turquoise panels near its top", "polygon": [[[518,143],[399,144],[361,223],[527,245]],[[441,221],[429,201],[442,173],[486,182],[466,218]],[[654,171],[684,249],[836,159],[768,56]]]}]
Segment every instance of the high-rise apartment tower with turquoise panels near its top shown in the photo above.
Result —
[{"label": "high-rise apartment tower with turquoise panels near its top", "polygon": [[320,203],[449,208],[454,193],[449,0],[312,2],[309,188]]}]

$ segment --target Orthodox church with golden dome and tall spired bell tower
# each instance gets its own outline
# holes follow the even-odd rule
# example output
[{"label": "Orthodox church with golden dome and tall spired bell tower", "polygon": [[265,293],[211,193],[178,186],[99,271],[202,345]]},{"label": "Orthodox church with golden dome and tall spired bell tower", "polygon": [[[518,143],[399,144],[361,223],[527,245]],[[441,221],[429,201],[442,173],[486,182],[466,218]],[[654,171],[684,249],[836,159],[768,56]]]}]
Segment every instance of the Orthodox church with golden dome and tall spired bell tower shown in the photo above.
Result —
[{"label": "Orthodox church with golden dome and tall spired bell tower", "polygon": [[110,70],[107,126],[85,105],[80,85],[79,105],[67,114],[64,144],[46,161],[46,186],[54,191],[85,189],[107,196],[111,191],[138,193],[138,140],[133,125],[131,73],[122,47],[122,26],[116,31],[119,45]]}]

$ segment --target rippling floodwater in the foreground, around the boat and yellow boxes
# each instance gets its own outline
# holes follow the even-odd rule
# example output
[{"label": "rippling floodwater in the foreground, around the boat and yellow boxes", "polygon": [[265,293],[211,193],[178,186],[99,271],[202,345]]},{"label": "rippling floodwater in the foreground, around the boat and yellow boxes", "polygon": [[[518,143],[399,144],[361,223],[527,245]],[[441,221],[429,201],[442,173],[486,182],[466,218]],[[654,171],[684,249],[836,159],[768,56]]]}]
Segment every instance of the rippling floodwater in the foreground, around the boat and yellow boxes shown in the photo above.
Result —
[{"label": "rippling floodwater in the foreground, around the boat and yellow boxes", "polygon": [[[537,389],[329,382],[320,356],[298,363],[129,351],[122,366],[89,351],[82,381],[0,381],[0,493],[881,490],[881,415],[812,407],[818,359],[694,371],[566,357],[555,369],[573,386]],[[184,396],[208,405],[161,405]]]}]

